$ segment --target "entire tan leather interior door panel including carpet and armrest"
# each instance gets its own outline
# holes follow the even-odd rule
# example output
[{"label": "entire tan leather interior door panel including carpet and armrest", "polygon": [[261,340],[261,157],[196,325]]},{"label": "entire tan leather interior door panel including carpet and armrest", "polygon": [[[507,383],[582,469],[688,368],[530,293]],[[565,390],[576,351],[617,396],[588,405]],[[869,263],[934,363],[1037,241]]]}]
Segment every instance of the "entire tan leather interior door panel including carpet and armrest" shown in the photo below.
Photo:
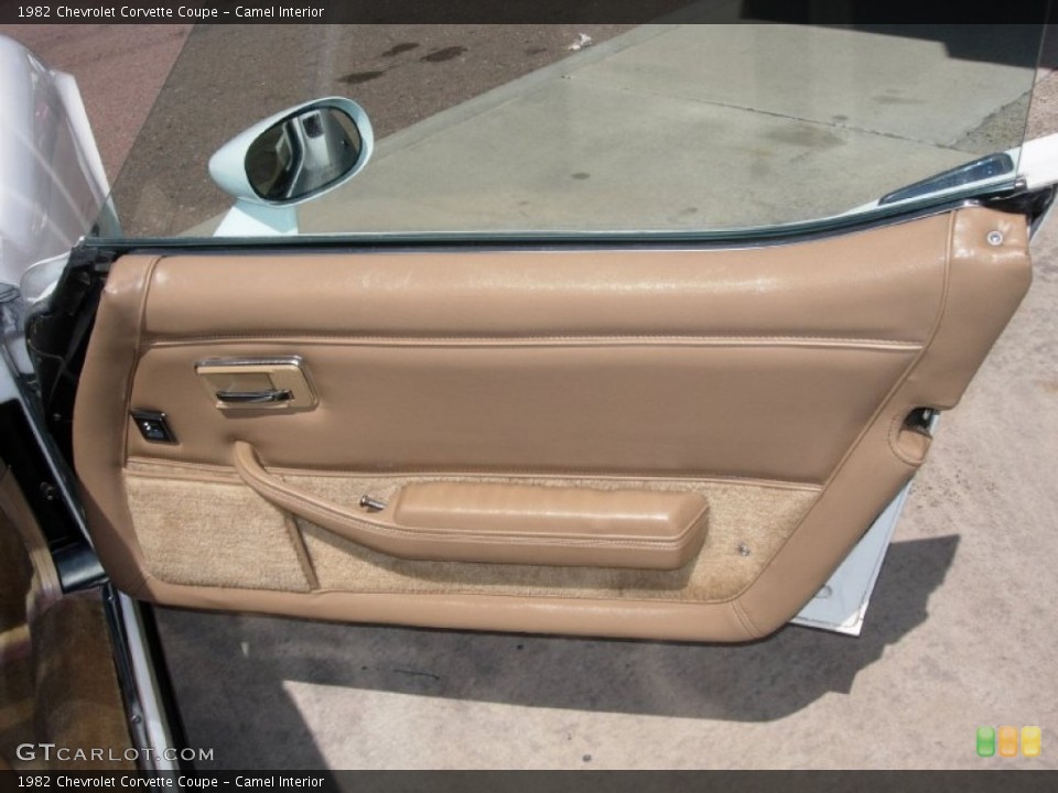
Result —
[{"label": "entire tan leather interior door panel including carpet and armrest", "polygon": [[[1029,273],[982,208],[732,250],[129,256],[75,414],[94,540],[166,604],[756,638],[914,474],[906,416],[956,404]],[[217,360],[296,360],[312,399],[227,410]]]}]

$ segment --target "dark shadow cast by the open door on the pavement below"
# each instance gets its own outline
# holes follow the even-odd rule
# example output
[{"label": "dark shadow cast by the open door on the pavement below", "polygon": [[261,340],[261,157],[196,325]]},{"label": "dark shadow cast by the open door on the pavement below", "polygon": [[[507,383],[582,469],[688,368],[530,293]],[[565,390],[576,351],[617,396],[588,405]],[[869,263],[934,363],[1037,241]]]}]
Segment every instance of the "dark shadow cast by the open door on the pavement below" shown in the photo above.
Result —
[{"label": "dark shadow cast by the open door on the pavement below", "polygon": [[[748,645],[299,622],[159,609],[192,746],[228,768],[321,768],[284,681],[624,714],[771,721],[856,674],[927,617],[958,536],[894,544],[861,638],[787,627]],[[341,723],[330,714],[328,724]],[[350,719],[352,721],[352,719]]]}]

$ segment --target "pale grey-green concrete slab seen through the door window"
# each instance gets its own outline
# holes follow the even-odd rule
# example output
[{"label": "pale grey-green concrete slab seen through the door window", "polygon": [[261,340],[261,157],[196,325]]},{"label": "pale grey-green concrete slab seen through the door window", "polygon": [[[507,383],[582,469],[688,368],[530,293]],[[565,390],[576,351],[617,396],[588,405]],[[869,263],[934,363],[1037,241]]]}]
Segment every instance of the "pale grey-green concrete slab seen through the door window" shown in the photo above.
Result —
[{"label": "pale grey-green concrete slab seen through the door window", "polygon": [[[953,57],[971,33],[643,25],[384,139],[356,180],[303,207],[301,227],[712,229],[835,215],[1021,142],[1033,42],[1004,32]],[[1012,51],[1027,57],[1008,63]]]}]

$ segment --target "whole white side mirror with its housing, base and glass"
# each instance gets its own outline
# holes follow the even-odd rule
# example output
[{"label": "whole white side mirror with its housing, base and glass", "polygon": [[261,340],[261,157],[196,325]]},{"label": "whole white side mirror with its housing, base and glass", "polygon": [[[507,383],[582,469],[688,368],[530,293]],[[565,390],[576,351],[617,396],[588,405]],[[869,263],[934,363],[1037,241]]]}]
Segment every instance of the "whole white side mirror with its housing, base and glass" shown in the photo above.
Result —
[{"label": "whole white side mirror with its housing, base and glass", "polygon": [[374,148],[371,122],[352,99],[316,99],[259,121],[209,159],[213,181],[236,198],[216,233],[296,232],[294,207],[348,182]]}]

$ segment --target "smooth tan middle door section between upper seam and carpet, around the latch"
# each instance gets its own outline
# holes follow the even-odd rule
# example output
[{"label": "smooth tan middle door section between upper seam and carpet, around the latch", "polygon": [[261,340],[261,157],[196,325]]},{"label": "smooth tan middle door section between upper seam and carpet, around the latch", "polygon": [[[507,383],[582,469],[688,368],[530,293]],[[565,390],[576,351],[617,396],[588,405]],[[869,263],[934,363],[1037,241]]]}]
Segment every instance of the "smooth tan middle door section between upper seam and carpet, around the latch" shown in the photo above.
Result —
[{"label": "smooth tan middle door section between upper seam and carpet, around the latch", "polygon": [[225,349],[246,358],[296,349],[319,406],[230,415],[196,382],[201,345],[150,346],[131,404],[163,410],[180,445],[131,433],[130,454],[230,466],[237,430],[268,465],[291,468],[822,484],[921,347],[240,338]]}]

